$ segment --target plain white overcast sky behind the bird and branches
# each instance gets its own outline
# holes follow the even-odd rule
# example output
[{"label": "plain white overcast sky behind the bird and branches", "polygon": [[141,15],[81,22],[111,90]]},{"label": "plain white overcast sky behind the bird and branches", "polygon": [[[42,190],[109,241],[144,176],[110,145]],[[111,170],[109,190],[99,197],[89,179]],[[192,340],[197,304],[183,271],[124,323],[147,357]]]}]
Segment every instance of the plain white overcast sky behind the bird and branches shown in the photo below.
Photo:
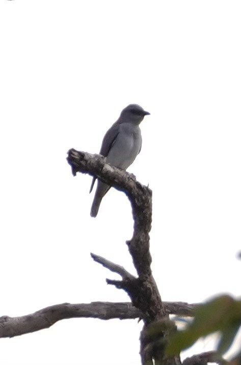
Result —
[{"label": "plain white overcast sky behind the bird and branches", "polygon": [[[162,299],[240,296],[240,16],[234,0],[0,2],[0,315],[128,300],[90,252],[135,273],[129,203],[112,189],[91,218],[66,152],[98,153],[129,103],[151,113],[128,171],[153,190]],[[138,364],[141,328],[61,321],[1,339],[0,364]]]}]

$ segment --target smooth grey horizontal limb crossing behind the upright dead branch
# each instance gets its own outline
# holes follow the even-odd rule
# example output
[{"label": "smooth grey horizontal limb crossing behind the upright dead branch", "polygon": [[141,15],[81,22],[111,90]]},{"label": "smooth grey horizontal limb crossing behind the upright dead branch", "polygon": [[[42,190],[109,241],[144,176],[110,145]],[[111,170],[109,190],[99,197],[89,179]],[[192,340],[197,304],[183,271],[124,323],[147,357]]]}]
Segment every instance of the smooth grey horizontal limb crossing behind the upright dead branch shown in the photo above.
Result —
[{"label": "smooth grey horizontal limb crossing behind the upright dead branch", "polygon": [[[193,315],[196,304],[163,302],[167,312],[176,315]],[[69,318],[97,318],[100,320],[129,320],[140,318],[141,312],[130,302],[92,302],[83,304],[62,303],[22,315],[21,317],[0,317],[0,338],[49,328],[58,321]]]}]

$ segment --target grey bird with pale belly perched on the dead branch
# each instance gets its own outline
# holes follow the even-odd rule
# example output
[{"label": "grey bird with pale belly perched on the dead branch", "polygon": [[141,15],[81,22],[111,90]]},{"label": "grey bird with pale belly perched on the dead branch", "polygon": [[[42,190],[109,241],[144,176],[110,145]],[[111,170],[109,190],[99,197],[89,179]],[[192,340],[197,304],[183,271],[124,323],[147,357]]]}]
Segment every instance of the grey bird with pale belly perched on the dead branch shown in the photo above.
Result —
[{"label": "grey bird with pale belly perched on the dead branch", "polygon": [[[130,104],[122,110],[119,119],[105,133],[100,155],[106,157],[106,162],[125,170],[135,160],[142,148],[142,135],[139,124],[145,115],[149,115],[140,105]],[[92,180],[90,192],[96,178]],[[97,181],[95,197],[90,215],[96,217],[102,198],[111,188],[110,185]]]}]

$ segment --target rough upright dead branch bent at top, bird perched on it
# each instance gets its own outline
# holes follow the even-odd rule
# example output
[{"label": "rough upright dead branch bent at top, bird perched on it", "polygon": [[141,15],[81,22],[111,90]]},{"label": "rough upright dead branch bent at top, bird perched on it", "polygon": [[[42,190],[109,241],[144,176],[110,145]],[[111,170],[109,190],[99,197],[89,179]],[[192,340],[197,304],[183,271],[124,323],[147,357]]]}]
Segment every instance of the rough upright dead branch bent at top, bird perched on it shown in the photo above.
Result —
[{"label": "rough upright dead branch bent at top, bird perched on it", "polygon": [[[150,267],[149,232],[152,220],[152,191],[136,181],[133,175],[105,163],[104,158],[100,155],[91,155],[72,149],[68,152],[67,161],[71,165],[73,175],[76,175],[76,172],[87,173],[125,192],[132,207],[134,221],[133,236],[126,243],[138,277],[125,278],[122,281],[108,280],[108,283],[124,289],[129,295],[132,304],[142,313],[145,333],[153,322],[169,321],[169,315],[160,298]],[[163,344],[168,335],[169,327],[166,326],[163,333],[160,334]],[[164,346],[152,348],[152,352],[147,351],[148,344],[145,343],[147,337],[141,335],[140,353],[143,364],[152,364],[153,361],[155,364],[162,363],[163,365],[180,363],[179,357],[167,358]]]}]

